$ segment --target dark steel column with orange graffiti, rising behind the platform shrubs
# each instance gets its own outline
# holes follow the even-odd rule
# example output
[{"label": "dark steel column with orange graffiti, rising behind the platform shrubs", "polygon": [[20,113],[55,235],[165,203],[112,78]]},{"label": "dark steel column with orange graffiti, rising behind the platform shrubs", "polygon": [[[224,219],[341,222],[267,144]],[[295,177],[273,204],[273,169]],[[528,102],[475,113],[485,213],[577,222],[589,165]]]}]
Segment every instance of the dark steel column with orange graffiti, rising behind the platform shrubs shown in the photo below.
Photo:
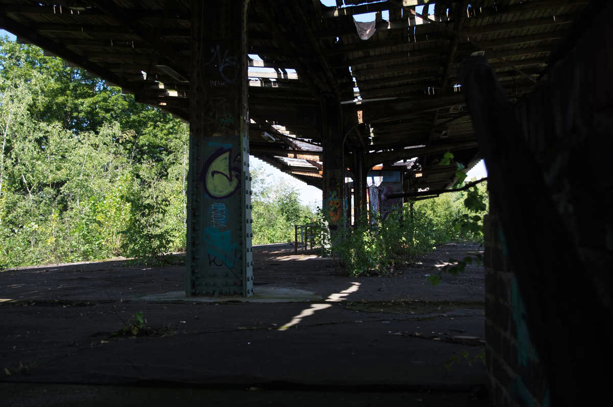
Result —
[{"label": "dark steel column with orange graffiti, rising behind the platform shrubs", "polygon": [[321,99],[324,147],[324,215],[328,218],[332,240],[345,225],[345,155],[341,110],[332,95]]}]

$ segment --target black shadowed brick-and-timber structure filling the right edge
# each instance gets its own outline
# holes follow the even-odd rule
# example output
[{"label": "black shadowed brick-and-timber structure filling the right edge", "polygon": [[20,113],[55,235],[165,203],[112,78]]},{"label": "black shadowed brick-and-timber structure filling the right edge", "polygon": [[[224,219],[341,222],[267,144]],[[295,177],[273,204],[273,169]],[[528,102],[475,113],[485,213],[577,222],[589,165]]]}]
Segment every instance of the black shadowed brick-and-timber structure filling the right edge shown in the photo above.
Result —
[{"label": "black shadowed brick-and-timber structure filling the right edge", "polygon": [[[613,2],[593,1],[510,103],[484,58],[460,78],[487,162],[487,368],[495,405],[600,405],[613,363]],[[604,7],[604,8],[603,8]],[[607,65],[608,64],[608,65]]]}]

